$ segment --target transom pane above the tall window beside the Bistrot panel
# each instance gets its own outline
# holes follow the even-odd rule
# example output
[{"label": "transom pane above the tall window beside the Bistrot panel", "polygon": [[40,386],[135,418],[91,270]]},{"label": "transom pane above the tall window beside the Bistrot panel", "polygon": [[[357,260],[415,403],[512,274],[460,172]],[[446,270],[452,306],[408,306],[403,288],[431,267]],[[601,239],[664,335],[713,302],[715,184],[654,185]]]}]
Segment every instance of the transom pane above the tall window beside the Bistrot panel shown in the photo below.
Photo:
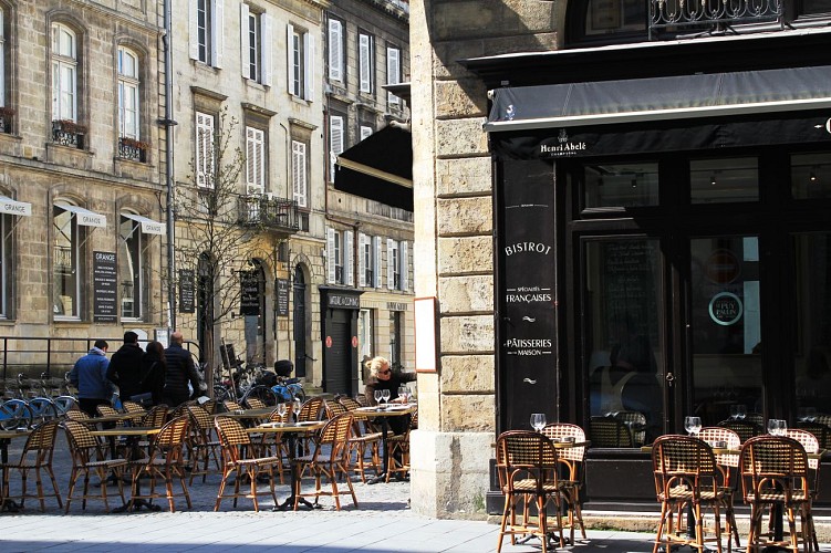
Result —
[{"label": "transom pane above the tall window beside the Bistrot panel", "polygon": [[585,166],[585,208],[640,207],[658,204],[658,165]]}]

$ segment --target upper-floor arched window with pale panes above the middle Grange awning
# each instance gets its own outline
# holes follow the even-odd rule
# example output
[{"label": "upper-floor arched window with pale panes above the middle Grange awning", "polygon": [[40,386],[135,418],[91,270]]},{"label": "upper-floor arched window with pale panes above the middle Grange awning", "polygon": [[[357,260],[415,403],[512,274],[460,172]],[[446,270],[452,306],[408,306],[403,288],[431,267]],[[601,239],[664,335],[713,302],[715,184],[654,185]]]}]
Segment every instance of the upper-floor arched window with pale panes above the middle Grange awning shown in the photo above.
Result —
[{"label": "upper-floor arched window with pale panes above the middle Grange awning", "polygon": [[52,23],[52,119],[77,121],[77,36]]}]

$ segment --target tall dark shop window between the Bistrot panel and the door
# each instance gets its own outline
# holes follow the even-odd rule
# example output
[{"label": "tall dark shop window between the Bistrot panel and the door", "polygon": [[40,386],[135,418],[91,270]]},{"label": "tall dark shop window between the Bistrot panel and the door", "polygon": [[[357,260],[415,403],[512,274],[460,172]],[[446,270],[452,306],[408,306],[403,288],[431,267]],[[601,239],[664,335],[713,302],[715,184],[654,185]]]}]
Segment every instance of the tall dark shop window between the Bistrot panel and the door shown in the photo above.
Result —
[{"label": "tall dark shop window between the Bistrot panel and the door", "polygon": [[663,431],[655,239],[585,244],[585,335],[594,447],[641,447]]}]

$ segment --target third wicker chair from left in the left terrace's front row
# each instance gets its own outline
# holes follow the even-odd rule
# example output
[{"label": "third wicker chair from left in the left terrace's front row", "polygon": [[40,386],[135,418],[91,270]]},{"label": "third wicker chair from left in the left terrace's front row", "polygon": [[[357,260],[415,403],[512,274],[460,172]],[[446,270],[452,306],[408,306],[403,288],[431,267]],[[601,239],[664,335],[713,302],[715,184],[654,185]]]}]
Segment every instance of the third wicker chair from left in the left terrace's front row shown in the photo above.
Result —
[{"label": "third wicker chair from left in the left terrace's front row", "polygon": [[[131,504],[136,500],[149,500],[156,498],[166,498],[170,512],[176,511],[174,497],[176,493],[173,489],[173,479],[179,480],[181,494],[185,497],[188,509],[190,504],[190,493],[185,483],[185,467],[183,463],[183,453],[185,441],[188,438],[188,417],[177,417],[166,422],[162,431],[150,439],[149,455],[144,459],[129,461],[133,468],[133,487],[131,493]],[[141,491],[139,479],[143,476],[149,477],[148,490]],[[156,491],[158,480],[164,480],[165,490]]]}]

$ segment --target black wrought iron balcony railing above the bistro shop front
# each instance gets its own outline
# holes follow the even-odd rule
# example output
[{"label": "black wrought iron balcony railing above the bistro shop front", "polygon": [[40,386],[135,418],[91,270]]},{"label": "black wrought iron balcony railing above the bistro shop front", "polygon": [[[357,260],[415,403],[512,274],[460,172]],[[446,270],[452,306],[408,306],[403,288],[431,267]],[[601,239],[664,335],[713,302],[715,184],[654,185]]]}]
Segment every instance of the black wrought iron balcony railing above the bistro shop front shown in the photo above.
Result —
[{"label": "black wrought iron balcony railing above the bistro shop front", "polygon": [[650,39],[667,29],[725,30],[731,25],[778,21],[781,0],[651,0]]}]

